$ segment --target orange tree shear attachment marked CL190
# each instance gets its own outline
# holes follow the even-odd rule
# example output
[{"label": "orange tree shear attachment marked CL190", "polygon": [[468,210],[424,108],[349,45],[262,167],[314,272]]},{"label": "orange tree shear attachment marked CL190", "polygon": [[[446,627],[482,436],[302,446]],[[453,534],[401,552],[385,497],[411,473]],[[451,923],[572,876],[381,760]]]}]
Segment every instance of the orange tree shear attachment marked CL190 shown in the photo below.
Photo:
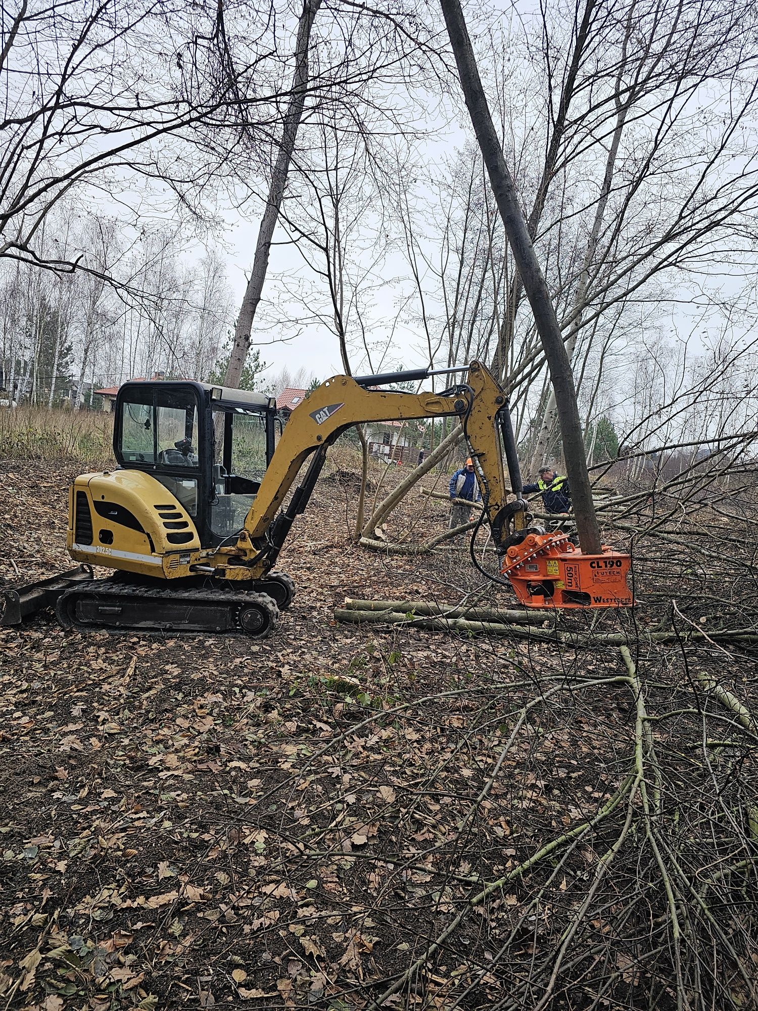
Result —
[{"label": "orange tree shear attachment marked CL190", "polygon": [[605,545],[599,555],[584,555],[566,534],[527,534],[507,549],[502,574],[528,608],[629,608],[631,562]]}]

